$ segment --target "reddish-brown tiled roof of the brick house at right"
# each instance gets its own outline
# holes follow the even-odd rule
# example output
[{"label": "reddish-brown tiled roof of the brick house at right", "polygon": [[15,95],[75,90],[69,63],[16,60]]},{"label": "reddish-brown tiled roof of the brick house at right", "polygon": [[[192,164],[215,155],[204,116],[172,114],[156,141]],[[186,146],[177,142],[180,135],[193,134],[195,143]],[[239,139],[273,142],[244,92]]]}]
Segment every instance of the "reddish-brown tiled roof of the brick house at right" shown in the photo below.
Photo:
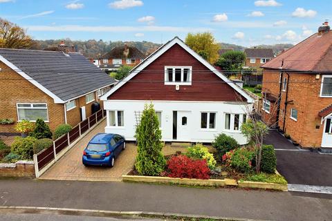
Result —
[{"label": "reddish-brown tiled roof of the brick house at right", "polygon": [[[332,31],[315,33],[289,48],[261,68],[332,73]],[[282,66],[282,61],[284,65]]]}]

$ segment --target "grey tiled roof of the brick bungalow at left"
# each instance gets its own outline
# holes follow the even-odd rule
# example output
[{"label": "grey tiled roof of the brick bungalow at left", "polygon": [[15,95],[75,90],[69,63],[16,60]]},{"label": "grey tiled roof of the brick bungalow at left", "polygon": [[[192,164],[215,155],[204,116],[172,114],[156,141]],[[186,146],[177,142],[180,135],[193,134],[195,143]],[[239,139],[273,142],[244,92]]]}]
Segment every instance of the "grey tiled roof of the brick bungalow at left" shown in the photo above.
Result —
[{"label": "grey tiled roof of the brick bungalow at left", "polygon": [[0,55],[63,101],[115,82],[80,53],[0,48]]}]

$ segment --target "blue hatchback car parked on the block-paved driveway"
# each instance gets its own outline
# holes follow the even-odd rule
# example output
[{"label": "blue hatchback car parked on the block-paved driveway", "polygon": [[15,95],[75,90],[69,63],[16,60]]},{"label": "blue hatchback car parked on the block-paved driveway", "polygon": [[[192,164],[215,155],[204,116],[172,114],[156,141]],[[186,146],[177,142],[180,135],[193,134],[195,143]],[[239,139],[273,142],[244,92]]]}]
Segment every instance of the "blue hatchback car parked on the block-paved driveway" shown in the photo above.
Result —
[{"label": "blue hatchback car parked on the block-paved driveway", "polygon": [[116,157],[124,148],[126,148],[126,142],[121,135],[98,133],[84,149],[82,162],[84,166],[114,166]]}]

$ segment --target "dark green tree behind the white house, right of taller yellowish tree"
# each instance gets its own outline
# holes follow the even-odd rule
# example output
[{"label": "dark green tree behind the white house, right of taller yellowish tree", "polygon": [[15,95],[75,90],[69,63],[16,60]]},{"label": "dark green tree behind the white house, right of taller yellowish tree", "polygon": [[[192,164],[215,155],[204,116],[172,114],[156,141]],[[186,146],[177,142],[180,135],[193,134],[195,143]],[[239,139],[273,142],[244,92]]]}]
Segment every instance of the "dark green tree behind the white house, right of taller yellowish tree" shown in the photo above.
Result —
[{"label": "dark green tree behind the white house, right of taller yellowish tree", "polygon": [[241,70],[244,61],[246,61],[244,52],[229,50],[219,57],[215,65],[222,70]]}]

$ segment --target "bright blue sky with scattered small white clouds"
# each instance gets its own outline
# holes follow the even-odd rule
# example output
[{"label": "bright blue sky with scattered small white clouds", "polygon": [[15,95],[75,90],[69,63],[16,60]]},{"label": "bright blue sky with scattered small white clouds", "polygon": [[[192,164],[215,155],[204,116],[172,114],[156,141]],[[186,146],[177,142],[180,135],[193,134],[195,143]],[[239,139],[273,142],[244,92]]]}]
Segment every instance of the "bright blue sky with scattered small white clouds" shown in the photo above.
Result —
[{"label": "bright blue sky with scattered small white clouds", "polygon": [[153,41],[212,32],[241,46],[296,44],[332,22],[332,0],[0,0],[35,39]]}]

